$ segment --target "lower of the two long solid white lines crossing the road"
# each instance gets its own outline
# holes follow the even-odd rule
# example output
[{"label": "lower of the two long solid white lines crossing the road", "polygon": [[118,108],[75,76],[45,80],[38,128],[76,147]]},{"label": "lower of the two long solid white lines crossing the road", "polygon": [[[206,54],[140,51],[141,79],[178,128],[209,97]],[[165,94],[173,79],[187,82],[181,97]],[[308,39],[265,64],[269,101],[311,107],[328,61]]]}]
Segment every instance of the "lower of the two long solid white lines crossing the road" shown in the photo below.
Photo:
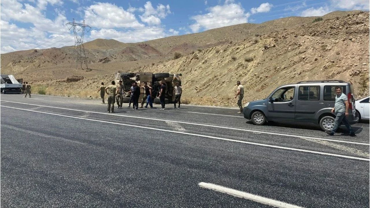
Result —
[{"label": "lower of the two long solid white lines crossing the road", "polygon": [[354,159],[354,160],[370,161],[370,159],[368,159],[368,158],[352,157],[352,156],[347,156],[347,155],[338,155],[338,154],[332,154],[332,153],[327,153],[327,152],[317,152],[317,151],[311,151],[311,150],[302,150],[302,149],[297,149],[297,148],[281,147],[281,146],[275,146],[275,145],[270,145],[270,144],[261,144],[261,143],[248,142],[248,141],[232,140],[232,139],[221,138],[221,137],[213,137],[213,136],[202,135],[202,134],[192,134],[192,133],[165,130],[165,129],[159,129],[159,128],[143,127],[143,126],[136,126],[136,125],[132,126],[131,124],[122,124],[122,123],[115,123],[115,122],[110,122],[110,121],[101,121],[101,120],[95,120],[95,119],[91,119],[91,118],[81,118],[81,117],[74,117],[74,116],[70,116],[70,115],[62,115],[62,114],[56,114],[56,113],[46,113],[46,112],[28,110],[28,109],[23,109],[23,108],[14,108],[14,107],[9,107],[9,106],[4,106],[4,105],[0,105],[0,106],[4,107],[4,108],[13,108],[13,109],[17,109],[17,110],[31,111],[31,112],[36,112],[36,113],[43,113],[43,114],[49,114],[49,115],[58,115],[58,116],[67,117],[67,118],[76,118],[76,119],[87,120],[87,121],[97,121],[97,122],[107,123],[107,124],[123,125],[123,126],[128,126],[128,127],[131,127],[131,128],[132,127],[145,128],[145,129],[150,129],[150,130],[165,131],[165,132],[171,132],[171,133],[176,133],[176,134],[186,134],[186,135],[192,135],[192,136],[197,136],[197,137],[205,137],[205,138],[218,139],[218,140],[224,140],[224,141],[239,142],[239,143],[244,143],[244,144],[252,144],[252,145],[258,145],[258,146],[262,146],[262,147],[272,147],[272,148],[283,149],[283,150],[293,150],[293,151],[299,151],[299,152],[308,152],[308,153],[313,153],[313,154],[330,155],[330,156],[334,156],[334,157],[349,158],[349,159]]}]

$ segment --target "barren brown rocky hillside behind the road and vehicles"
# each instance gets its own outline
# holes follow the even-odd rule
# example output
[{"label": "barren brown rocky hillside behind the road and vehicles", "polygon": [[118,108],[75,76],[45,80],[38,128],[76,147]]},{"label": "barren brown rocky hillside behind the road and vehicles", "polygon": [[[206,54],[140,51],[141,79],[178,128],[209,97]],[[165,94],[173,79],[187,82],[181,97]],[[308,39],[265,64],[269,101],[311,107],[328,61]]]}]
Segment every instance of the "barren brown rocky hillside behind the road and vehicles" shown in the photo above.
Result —
[{"label": "barren brown rocky hillside behind the road and vehicles", "polygon": [[[329,78],[352,81],[356,94],[368,95],[369,12],[336,11],[312,23],[315,18],[287,17],[141,43],[97,39],[84,44],[92,71],[74,68],[73,47],[16,51],[1,54],[1,73],[46,85],[50,94],[93,97],[99,83],[119,70],[182,73],[184,99],[215,105],[235,105],[236,80],[245,86],[245,101],[265,98],[281,84]],[[174,52],[183,56],[173,59]],[[85,78],[63,82],[72,75]]]}]

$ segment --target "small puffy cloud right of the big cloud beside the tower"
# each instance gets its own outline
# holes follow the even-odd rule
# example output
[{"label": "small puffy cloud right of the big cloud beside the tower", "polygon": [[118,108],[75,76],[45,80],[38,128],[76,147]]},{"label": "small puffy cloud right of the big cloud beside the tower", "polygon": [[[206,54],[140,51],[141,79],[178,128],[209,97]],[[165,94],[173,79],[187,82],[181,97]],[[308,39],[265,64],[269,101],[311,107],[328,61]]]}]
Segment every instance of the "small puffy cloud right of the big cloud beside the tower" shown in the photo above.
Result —
[{"label": "small puffy cloud right of the big cloud beside the tower", "polygon": [[163,4],[158,4],[157,9],[154,9],[152,3],[147,1],[144,5],[145,12],[139,15],[141,21],[153,25],[161,24],[161,19],[164,19],[168,14],[171,14],[169,5],[164,6]]}]

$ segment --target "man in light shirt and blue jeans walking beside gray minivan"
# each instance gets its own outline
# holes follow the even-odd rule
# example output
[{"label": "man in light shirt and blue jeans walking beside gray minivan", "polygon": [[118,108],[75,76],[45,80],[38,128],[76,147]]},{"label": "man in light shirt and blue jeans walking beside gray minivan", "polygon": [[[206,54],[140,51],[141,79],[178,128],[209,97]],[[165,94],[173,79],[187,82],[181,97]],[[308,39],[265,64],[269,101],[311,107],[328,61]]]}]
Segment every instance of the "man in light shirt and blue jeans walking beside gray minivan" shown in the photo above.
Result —
[{"label": "man in light shirt and blue jeans walking beside gray minivan", "polygon": [[349,135],[351,137],[356,137],[356,134],[354,134],[351,125],[349,124],[347,120],[348,114],[348,107],[349,107],[349,101],[345,94],[342,93],[342,89],[338,86],[335,87],[335,92],[337,93],[335,97],[335,104],[334,108],[332,109],[332,113],[336,113],[335,121],[334,121],[334,127],[332,131],[325,131],[330,136],[334,135],[335,131],[338,129],[340,122],[343,121],[344,125],[346,125]]}]

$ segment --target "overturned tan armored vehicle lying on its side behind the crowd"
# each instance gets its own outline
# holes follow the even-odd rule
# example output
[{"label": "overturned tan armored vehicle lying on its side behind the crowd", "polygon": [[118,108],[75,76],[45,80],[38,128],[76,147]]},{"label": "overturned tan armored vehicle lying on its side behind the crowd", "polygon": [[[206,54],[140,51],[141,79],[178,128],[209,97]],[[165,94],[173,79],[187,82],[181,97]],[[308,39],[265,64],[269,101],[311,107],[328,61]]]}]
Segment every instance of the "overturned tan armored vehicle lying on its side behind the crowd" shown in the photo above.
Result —
[{"label": "overturned tan armored vehicle lying on its side behind the crowd", "polygon": [[[137,85],[142,87],[146,82],[152,89],[152,102],[159,103],[159,81],[163,81],[166,85],[166,94],[165,94],[165,102],[172,103],[175,100],[175,92],[174,86],[176,82],[179,83],[181,86],[181,79],[180,76],[182,74],[170,74],[170,73],[147,73],[147,72],[139,72],[139,73],[116,73],[115,74],[115,82],[118,84],[118,81],[122,80],[122,84],[124,85],[124,98],[123,102],[128,103],[130,94],[130,88],[132,83],[137,82]],[[142,96],[144,95],[144,89],[140,88],[140,97],[139,101],[141,101]]]}]

